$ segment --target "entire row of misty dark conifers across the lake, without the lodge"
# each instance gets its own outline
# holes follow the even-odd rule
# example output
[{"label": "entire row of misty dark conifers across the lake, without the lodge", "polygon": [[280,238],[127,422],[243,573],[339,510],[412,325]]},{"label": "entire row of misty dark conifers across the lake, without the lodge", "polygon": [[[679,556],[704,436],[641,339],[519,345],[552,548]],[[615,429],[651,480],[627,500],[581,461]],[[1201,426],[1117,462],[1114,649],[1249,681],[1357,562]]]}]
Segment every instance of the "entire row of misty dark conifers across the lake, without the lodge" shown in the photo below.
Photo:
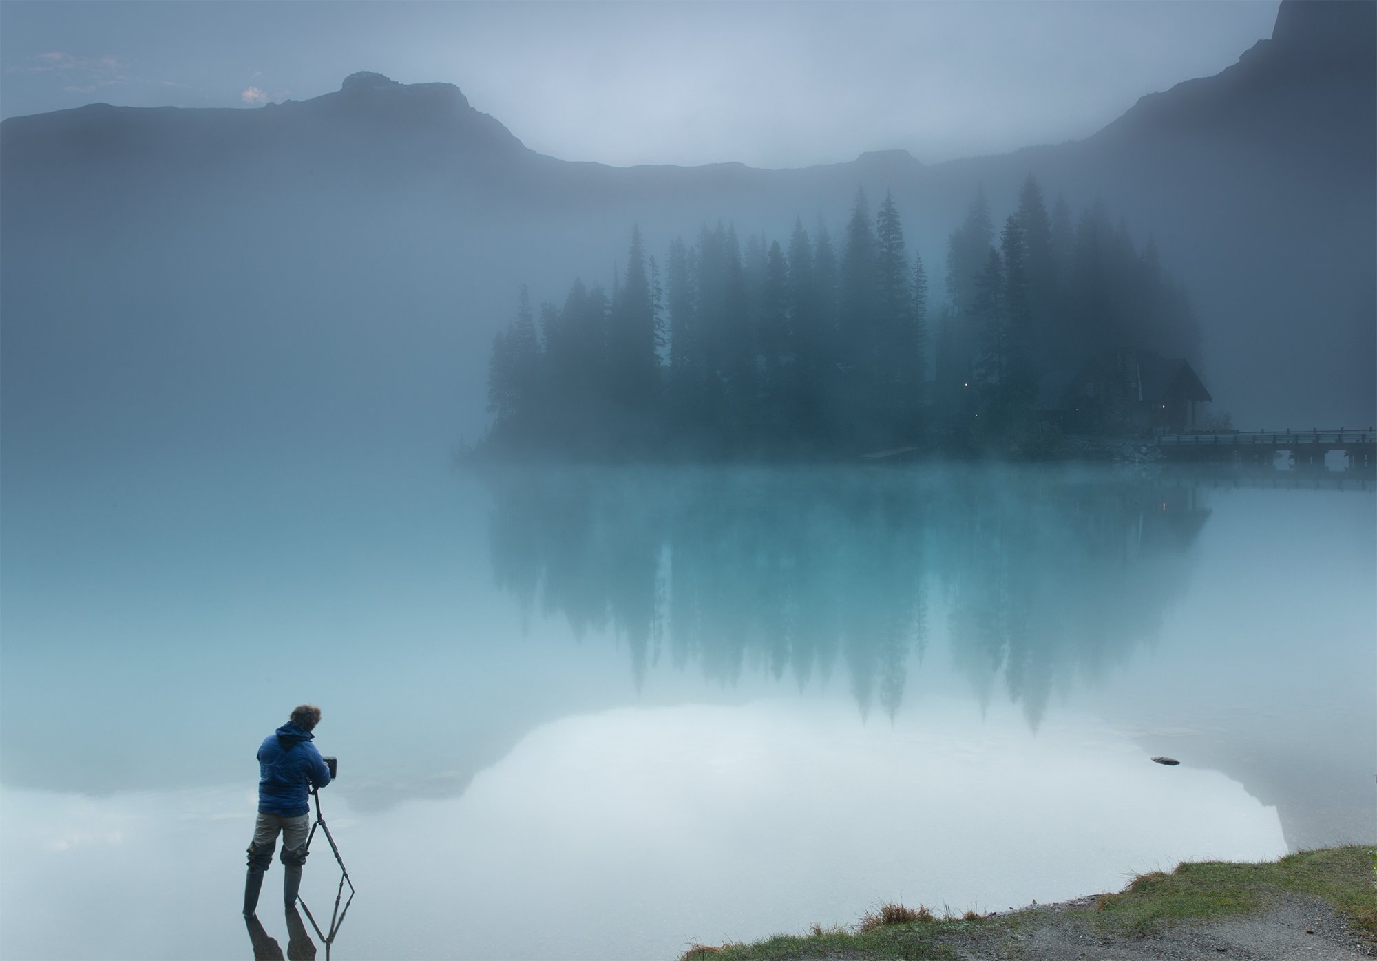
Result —
[{"label": "entire row of misty dark conifers across the lake, without the lodge", "polygon": [[573,456],[829,454],[880,445],[1036,443],[1040,384],[1121,346],[1188,357],[1197,325],[1150,241],[1103,204],[1073,226],[1030,176],[996,234],[983,193],[929,303],[892,197],[858,190],[839,241],[704,226],[661,266],[633,230],[610,292],[522,289],[493,343],[487,443]]}]

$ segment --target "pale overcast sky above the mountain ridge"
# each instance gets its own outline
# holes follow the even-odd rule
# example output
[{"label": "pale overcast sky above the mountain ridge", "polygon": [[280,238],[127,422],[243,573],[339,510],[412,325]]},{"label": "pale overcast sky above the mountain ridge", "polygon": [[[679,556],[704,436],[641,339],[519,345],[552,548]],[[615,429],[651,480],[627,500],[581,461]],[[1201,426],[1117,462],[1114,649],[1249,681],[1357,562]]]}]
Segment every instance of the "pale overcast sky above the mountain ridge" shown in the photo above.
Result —
[{"label": "pale overcast sky above the mountain ridge", "polygon": [[0,116],[257,109],[357,70],[456,84],[526,146],[614,165],[921,161],[1089,136],[1234,63],[1276,0],[0,3]]}]

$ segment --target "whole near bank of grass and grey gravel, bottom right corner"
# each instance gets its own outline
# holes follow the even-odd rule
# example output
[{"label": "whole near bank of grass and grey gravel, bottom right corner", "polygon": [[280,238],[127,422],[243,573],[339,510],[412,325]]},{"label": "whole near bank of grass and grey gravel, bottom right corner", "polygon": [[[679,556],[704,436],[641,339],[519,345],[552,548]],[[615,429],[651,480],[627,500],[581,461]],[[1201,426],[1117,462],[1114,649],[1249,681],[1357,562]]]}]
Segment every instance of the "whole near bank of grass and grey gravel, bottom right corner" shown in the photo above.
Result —
[{"label": "whole near bank of grass and grey gravel, bottom right corner", "polygon": [[1270,862],[1183,862],[1120,892],[1012,911],[935,917],[881,905],[851,928],[691,944],[679,961],[1186,961],[1199,957],[1356,961],[1377,957],[1377,849],[1343,845]]}]

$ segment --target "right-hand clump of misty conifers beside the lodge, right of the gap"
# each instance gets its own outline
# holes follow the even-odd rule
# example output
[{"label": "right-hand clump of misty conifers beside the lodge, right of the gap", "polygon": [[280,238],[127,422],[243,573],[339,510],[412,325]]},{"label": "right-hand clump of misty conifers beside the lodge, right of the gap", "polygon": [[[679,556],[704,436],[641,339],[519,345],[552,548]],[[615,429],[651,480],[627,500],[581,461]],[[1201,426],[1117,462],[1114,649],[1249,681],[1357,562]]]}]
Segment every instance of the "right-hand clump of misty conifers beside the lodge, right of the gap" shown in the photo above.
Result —
[{"label": "right-hand clump of misty conifers beside the lodge, right of the gap", "polygon": [[1194,361],[1199,325],[1157,244],[1096,201],[1073,226],[1048,213],[1029,176],[998,235],[983,194],[947,241],[947,303],[938,322],[932,414],[956,442],[1038,443],[1040,409],[1056,406],[1092,357],[1137,347]]}]

